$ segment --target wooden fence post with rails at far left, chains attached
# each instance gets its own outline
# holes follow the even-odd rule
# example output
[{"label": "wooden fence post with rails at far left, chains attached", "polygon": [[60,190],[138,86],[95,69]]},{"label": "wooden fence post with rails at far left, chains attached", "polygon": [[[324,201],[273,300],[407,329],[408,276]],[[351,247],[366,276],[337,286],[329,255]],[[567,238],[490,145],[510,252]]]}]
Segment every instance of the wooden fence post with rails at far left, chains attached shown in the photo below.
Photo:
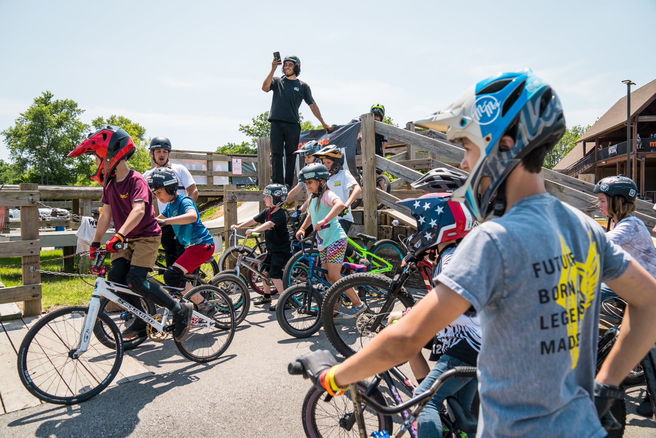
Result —
[{"label": "wooden fence post with rails at far left, chains attached", "polygon": [[39,200],[36,184],[21,184],[18,190],[0,191],[0,206],[20,206],[20,240],[0,242],[0,257],[21,256],[22,285],[0,289],[0,304],[23,301],[23,315],[41,315],[41,274],[30,271],[39,269],[41,246],[39,245],[39,208],[30,201]]}]

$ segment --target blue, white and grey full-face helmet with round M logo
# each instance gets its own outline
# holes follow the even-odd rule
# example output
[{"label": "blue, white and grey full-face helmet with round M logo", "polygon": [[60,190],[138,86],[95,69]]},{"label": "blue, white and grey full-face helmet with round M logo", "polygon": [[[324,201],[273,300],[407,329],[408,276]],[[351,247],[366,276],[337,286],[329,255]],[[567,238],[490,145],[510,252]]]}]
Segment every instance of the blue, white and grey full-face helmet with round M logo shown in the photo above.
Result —
[{"label": "blue, white and grey full-face helmet with round M logo", "polygon": [[[491,213],[491,201],[522,158],[537,147],[552,148],[565,131],[560,99],[529,68],[483,79],[448,108],[414,123],[446,131],[452,142],[466,137],[480,148],[467,181],[453,192],[453,200],[464,201],[478,221]],[[504,135],[514,146],[500,147]]]}]

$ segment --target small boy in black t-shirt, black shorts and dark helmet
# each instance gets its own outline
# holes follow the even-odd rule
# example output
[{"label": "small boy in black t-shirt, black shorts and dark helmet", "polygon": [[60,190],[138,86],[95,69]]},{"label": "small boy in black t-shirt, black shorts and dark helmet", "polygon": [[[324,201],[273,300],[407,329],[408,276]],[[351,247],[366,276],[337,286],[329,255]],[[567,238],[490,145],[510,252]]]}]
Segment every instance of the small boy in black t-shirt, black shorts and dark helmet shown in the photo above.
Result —
[{"label": "small boy in black t-shirt, black shorts and dark helmet", "polygon": [[[264,231],[264,243],[268,255],[264,259],[264,274],[270,276],[276,286],[277,292],[283,290],[283,269],[287,261],[291,258],[291,243],[289,241],[289,230],[287,230],[287,213],[280,206],[287,200],[287,188],[281,184],[270,184],[264,188],[264,204],[267,208],[252,219],[231,225],[230,229],[239,229],[251,227],[256,223],[261,223],[259,227],[252,230],[246,230],[246,236],[251,232]],[[264,296],[259,297],[253,303],[264,304],[271,302],[271,286],[266,281],[262,282],[264,286]],[[275,311],[276,306],[269,307],[270,311]]]}]

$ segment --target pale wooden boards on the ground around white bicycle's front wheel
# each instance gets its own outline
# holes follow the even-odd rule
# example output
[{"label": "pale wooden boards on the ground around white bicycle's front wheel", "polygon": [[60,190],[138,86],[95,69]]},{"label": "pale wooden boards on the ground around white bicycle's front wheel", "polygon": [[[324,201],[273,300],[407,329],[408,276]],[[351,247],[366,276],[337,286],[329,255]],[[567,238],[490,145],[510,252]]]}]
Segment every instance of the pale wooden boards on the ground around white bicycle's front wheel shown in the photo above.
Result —
[{"label": "pale wooden boards on the ground around white bicycle's front wheel", "polygon": [[[41,405],[39,399],[31,395],[20,382],[16,359],[18,349],[24,336],[39,317],[24,317],[0,322],[0,414],[13,412],[31,406]],[[110,387],[125,382],[142,379],[154,374],[141,362],[125,353],[123,363]]]}]

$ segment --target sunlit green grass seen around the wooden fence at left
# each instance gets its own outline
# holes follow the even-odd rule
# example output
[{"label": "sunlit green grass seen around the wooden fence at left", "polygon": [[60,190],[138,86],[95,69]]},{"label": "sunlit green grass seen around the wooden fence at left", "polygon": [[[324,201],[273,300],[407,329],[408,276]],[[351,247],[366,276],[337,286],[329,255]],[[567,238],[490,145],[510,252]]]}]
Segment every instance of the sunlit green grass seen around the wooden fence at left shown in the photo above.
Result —
[{"label": "sunlit green grass seen around the wooden fence at left", "polygon": [[[62,272],[63,260],[43,261],[54,257],[62,257],[62,250],[41,252],[41,269],[43,271]],[[77,267],[79,256],[75,255],[73,259],[75,267]],[[20,257],[0,258],[0,281],[7,287],[22,284],[20,266],[7,267],[7,265],[15,263],[21,263]],[[104,264],[110,265],[109,257]],[[41,305],[43,309],[49,309],[52,306],[87,304],[91,298],[91,292],[93,292],[94,279],[85,278],[85,280],[91,284],[85,283],[81,277],[41,274]]]}]

